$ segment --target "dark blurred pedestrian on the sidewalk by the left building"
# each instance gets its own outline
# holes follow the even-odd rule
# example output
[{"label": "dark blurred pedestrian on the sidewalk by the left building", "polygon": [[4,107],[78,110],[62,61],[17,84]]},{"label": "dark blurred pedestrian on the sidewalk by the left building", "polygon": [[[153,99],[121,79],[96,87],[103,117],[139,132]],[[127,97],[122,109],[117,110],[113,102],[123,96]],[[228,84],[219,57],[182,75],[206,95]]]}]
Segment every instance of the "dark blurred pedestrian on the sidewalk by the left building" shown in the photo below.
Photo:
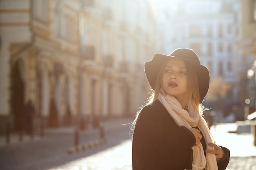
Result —
[{"label": "dark blurred pedestrian on the sidewalk by the left building", "polygon": [[32,135],[33,132],[33,117],[35,114],[35,108],[32,101],[29,99],[27,104],[24,106],[24,117],[25,117],[25,130],[27,134]]}]

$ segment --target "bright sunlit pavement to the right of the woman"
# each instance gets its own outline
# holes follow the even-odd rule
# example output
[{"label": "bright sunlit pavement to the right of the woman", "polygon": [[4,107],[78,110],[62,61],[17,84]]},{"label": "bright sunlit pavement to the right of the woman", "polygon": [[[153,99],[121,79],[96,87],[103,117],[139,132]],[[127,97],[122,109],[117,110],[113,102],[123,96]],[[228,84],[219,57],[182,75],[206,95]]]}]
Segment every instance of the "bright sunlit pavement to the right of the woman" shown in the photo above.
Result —
[{"label": "bright sunlit pavement to the right of the woman", "polygon": [[236,124],[212,126],[216,144],[230,150],[230,161],[226,170],[256,170],[256,146],[250,133],[237,134]]}]

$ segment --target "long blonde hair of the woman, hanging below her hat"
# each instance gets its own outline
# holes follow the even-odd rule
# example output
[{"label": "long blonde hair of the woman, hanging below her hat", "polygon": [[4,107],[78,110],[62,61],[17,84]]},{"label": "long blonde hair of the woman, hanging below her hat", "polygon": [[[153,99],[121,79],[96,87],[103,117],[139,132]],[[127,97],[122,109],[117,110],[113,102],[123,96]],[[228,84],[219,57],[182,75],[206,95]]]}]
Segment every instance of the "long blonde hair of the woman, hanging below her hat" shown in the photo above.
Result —
[{"label": "long blonde hair of the woman, hanging below her hat", "polygon": [[[168,60],[170,60],[170,59],[168,59]],[[164,63],[167,63],[168,60],[166,60]],[[188,102],[193,100],[197,106],[197,109],[198,109],[200,115],[202,115],[203,111],[207,110],[207,108],[204,108],[202,106],[202,103],[200,102],[200,91],[199,91],[199,85],[198,85],[198,77],[196,75],[195,70],[188,63],[184,62],[184,64],[186,66],[186,70],[187,70],[186,73],[187,73],[187,78],[188,78],[188,93],[189,93]],[[157,99],[159,93],[162,93],[162,86],[163,86],[162,79],[163,79],[165,66],[166,66],[166,64],[163,64],[163,66],[159,70],[159,73],[157,75],[157,79],[155,82],[155,90],[150,87],[150,90],[149,90],[150,97],[148,97],[148,101],[146,102],[145,106],[153,103]],[[142,108],[144,108],[145,106],[142,106],[140,108],[140,110],[137,112],[135,120],[132,122],[131,130],[134,130],[139,113],[141,112]]]}]

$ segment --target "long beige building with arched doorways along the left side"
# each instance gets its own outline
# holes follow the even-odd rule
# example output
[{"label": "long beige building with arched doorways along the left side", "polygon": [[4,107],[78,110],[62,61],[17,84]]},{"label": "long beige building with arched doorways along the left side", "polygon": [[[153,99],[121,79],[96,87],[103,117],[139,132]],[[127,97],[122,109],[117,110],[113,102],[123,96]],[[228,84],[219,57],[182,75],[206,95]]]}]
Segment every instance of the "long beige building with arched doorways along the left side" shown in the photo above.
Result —
[{"label": "long beige building with arched doorways along the left side", "polygon": [[147,1],[0,0],[0,130],[22,128],[29,99],[36,125],[134,116],[155,32]]}]

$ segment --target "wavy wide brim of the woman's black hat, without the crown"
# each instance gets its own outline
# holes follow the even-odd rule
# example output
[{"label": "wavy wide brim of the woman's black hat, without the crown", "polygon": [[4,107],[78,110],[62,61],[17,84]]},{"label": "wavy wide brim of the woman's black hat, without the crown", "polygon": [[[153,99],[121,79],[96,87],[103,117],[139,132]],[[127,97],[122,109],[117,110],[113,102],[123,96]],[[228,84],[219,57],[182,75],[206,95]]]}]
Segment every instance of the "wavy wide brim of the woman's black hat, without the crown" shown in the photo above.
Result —
[{"label": "wavy wide brim of the woman's black hat, without the crown", "polygon": [[210,84],[210,74],[209,70],[203,66],[202,64],[198,62],[194,62],[191,60],[186,60],[181,57],[175,57],[171,55],[164,55],[160,53],[156,53],[152,60],[149,62],[145,62],[144,64],[144,71],[146,74],[146,77],[148,79],[148,83],[155,90],[155,83],[157,79],[157,75],[164,63],[166,63],[171,58],[179,58],[182,59],[185,64],[190,65],[196,72],[196,75],[198,77],[198,85],[199,85],[199,91],[200,91],[200,102],[204,100],[204,97],[207,95],[209,84]]}]

